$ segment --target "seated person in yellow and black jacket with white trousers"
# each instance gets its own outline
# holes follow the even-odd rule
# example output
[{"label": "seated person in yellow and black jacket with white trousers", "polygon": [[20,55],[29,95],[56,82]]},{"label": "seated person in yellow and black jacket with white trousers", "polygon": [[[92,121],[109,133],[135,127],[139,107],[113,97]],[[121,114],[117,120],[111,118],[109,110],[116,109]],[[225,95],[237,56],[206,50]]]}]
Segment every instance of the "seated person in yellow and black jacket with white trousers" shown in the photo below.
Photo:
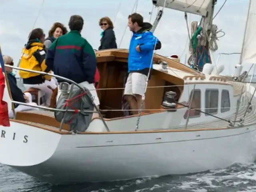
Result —
[{"label": "seated person in yellow and black jacket with white trousers", "polygon": [[[44,31],[40,28],[32,30],[26,47],[22,50],[22,57],[20,60],[20,68],[50,72],[50,69],[45,65],[46,50],[44,46]],[[19,71],[20,77],[23,79],[23,84],[26,89],[38,88],[46,94],[46,105],[50,105],[52,90],[50,86],[55,89],[57,85],[51,81],[51,76],[42,75],[38,73]]]}]

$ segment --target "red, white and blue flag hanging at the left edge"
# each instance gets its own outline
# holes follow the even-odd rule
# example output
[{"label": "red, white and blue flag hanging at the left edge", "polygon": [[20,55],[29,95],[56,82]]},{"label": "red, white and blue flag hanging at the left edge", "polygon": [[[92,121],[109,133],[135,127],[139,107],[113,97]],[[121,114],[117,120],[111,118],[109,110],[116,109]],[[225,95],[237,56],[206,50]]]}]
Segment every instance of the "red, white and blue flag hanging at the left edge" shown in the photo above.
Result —
[{"label": "red, white and blue flag hanging at the left edge", "polygon": [[0,126],[10,127],[10,120],[8,116],[8,104],[3,101],[5,78],[4,78],[4,59],[0,47]]}]

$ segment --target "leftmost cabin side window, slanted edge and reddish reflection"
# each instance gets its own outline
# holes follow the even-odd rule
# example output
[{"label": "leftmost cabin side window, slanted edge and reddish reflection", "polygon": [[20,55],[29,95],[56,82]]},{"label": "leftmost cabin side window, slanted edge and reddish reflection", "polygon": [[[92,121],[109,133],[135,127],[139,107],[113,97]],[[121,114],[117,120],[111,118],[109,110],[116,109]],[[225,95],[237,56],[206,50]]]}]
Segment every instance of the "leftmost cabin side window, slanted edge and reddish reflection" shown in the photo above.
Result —
[{"label": "leftmost cabin side window, slanted edge and reddish reflection", "polygon": [[[187,108],[185,114],[184,114],[184,119],[186,119],[188,117],[189,114],[189,118],[194,118],[194,117],[200,117],[201,112],[201,90],[194,90],[194,94],[193,94],[193,90],[190,93],[190,97],[188,99],[188,102],[186,102],[187,106],[190,106],[191,109],[189,110],[189,108]],[[191,100],[192,98],[192,100]],[[190,105],[190,101],[191,101],[191,105]],[[195,110],[197,109],[197,110]]]}]

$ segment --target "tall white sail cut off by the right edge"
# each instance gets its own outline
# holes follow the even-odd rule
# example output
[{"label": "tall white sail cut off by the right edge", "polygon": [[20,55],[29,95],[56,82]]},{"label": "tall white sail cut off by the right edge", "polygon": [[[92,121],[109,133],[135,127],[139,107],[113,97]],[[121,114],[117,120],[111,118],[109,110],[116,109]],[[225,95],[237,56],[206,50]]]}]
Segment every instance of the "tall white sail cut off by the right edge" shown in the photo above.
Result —
[{"label": "tall white sail cut off by the right edge", "polygon": [[256,63],[256,0],[250,0],[240,63]]}]

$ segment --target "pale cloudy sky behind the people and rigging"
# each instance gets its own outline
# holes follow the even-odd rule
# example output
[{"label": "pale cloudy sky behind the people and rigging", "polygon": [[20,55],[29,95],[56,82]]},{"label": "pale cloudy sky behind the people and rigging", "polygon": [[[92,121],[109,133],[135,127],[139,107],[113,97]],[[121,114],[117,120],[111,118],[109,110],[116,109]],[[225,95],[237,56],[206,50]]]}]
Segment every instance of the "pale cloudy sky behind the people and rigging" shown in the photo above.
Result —
[{"label": "pale cloudy sky behind the people and rigging", "polygon": [[[21,50],[33,28],[42,28],[48,34],[54,22],[61,22],[68,27],[71,15],[78,14],[84,18],[82,36],[90,42],[94,49],[100,45],[99,18],[109,16],[114,22],[119,48],[128,48],[131,32],[127,27],[128,15],[132,13],[136,0],[1,0],[0,6],[0,45],[3,54],[14,58],[18,63]],[[44,2],[44,3],[43,3]],[[249,0],[227,0],[226,4],[214,18],[213,23],[225,32],[218,41],[218,50],[213,53],[212,61],[216,63],[220,53],[241,52],[242,40]],[[121,3],[121,4],[120,4]],[[224,0],[218,0],[215,14]],[[120,4],[120,8],[118,9]],[[139,0],[137,12],[142,14],[145,22],[154,22],[157,8],[153,8],[152,0]],[[135,10],[134,10],[135,11]],[[134,12],[133,11],[133,12]],[[151,19],[150,19],[151,18]],[[188,14],[189,23],[200,21],[200,16]],[[122,36],[124,37],[122,38]],[[188,53],[188,32],[184,13],[168,8],[158,24],[154,35],[162,42],[162,48],[156,53],[170,56],[177,54],[182,63],[190,55]],[[121,42],[122,40],[122,42]],[[120,43],[121,42],[121,43]],[[225,66],[223,74],[234,74],[234,67],[240,55],[221,55],[218,64]],[[244,64],[248,70],[251,64]],[[252,71],[251,71],[252,72]]]}]

